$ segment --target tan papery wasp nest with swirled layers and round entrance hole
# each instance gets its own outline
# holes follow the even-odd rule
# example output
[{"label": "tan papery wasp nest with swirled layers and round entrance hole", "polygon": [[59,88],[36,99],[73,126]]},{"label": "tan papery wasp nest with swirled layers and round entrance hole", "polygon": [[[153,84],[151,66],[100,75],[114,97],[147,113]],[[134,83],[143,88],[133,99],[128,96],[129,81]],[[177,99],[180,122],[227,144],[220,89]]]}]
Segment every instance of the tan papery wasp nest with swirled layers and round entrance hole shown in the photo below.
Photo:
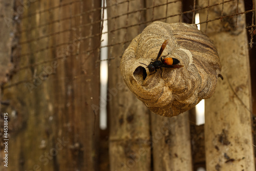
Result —
[{"label": "tan papery wasp nest with swirled layers and round entrance hole", "polygon": [[[161,62],[156,72],[150,72],[147,66],[157,58],[165,40],[162,58],[176,58],[184,67],[166,68]],[[132,40],[120,70],[129,89],[148,109],[172,117],[211,97],[221,63],[210,39],[195,25],[154,22]]]}]

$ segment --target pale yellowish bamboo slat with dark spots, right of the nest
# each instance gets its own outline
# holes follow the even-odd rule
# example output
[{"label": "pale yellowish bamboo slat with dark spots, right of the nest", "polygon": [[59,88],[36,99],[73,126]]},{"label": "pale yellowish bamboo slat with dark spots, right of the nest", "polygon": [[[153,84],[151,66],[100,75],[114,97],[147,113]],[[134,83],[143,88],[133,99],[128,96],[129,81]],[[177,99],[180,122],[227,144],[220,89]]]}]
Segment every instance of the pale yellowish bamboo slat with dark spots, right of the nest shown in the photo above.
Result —
[{"label": "pale yellowish bamboo slat with dark spots, right of the nest", "polygon": [[[199,1],[200,7],[222,3]],[[200,22],[244,11],[237,1],[200,11]],[[251,134],[251,88],[245,15],[202,24],[214,42],[222,63],[216,92],[205,100],[207,170],[255,170]]]}]

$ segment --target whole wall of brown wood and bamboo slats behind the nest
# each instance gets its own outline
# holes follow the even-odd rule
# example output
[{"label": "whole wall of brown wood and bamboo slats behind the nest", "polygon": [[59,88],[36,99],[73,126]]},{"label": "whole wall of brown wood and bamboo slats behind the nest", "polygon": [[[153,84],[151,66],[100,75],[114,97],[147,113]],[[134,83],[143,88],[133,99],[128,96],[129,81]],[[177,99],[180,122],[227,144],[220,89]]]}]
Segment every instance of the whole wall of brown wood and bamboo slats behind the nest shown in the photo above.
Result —
[{"label": "whole wall of brown wood and bamboo slats behind the nest", "polygon": [[[1,170],[255,170],[254,4],[2,0]],[[200,126],[194,109],[172,118],[150,112],[119,71],[122,53],[147,25],[156,20],[195,23],[196,13],[218,50],[224,77],[205,100]],[[108,45],[102,47],[104,22]],[[104,47],[108,127],[100,130]]]}]

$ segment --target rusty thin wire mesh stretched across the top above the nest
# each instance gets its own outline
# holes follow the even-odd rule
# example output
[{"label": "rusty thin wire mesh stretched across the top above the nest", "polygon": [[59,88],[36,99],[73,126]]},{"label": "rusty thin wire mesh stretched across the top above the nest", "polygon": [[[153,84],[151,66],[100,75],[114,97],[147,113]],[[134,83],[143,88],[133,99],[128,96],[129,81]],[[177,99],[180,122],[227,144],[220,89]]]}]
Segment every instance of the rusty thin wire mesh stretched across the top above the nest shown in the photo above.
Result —
[{"label": "rusty thin wire mesh stretched across the top above the nest", "polygon": [[[252,4],[253,4],[252,9],[247,10],[247,11],[241,11],[241,12],[239,12],[239,9],[238,9],[238,5],[239,5],[239,1],[238,0],[228,0],[228,1],[224,1],[223,0],[221,3],[212,4],[212,5],[209,4],[209,0],[208,0],[207,6],[204,6],[204,7],[197,6],[196,0],[194,0],[193,1],[193,7],[191,8],[191,10],[179,12],[177,14],[172,14],[172,15],[168,15],[168,16],[167,16],[167,6],[171,5],[173,3],[178,3],[178,2],[181,3],[182,2],[181,0],[177,0],[177,1],[173,1],[173,2],[166,1],[166,3],[158,4],[158,5],[155,5],[155,2],[153,2],[153,5],[150,6],[150,7],[144,7],[143,8],[143,6],[141,6],[140,8],[138,8],[136,10],[133,10],[133,9],[129,8],[129,6],[130,6],[129,4],[132,3],[133,1],[135,1],[135,0],[125,0],[125,1],[118,2],[118,3],[108,4],[109,6],[105,6],[105,4],[103,4],[101,8],[95,8],[95,9],[91,9],[91,10],[88,10],[88,11],[82,11],[80,13],[77,12],[77,11],[70,10],[69,11],[69,16],[63,17],[63,18],[61,18],[61,16],[59,16],[58,19],[56,19],[56,18],[54,19],[54,18],[50,18],[49,17],[49,19],[47,20],[46,23],[38,23],[38,25],[36,25],[36,26],[28,26],[27,28],[25,28],[23,30],[17,30],[17,37],[23,36],[24,34],[25,35],[29,34],[30,32],[34,32],[34,31],[39,32],[40,30],[42,30],[44,28],[47,28],[47,27],[50,27],[50,26],[53,26],[53,25],[61,25],[63,22],[66,22],[66,21],[72,22],[72,20],[74,20],[77,17],[86,17],[86,16],[94,14],[94,13],[100,13],[102,9],[110,9],[110,8],[113,8],[113,7],[114,8],[118,8],[120,5],[126,5],[126,7],[127,7],[126,9],[124,9],[124,12],[122,14],[117,14],[115,16],[108,17],[107,19],[103,19],[104,18],[104,14],[102,14],[101,15],[101,19],[94,20],[94,21],[92,20],[92,22],[89,23],[89,24],[82,24],[80,22],[77,25],[74,25],[74,26],[72,25],[72,26],[70,26],[70,28],[67,28],[67,29],[57,30],[55,32],[47,32],[45,35],[38,35],[38,36],[34,36],[34,37],[31,36],[30,39],[27,39],[25,41],[19,41],[18,45],[21,46],[21,47],[22,46],[29,46],[33,42],[38,42],[38,41],[40,41],[42,39],[51,38],[52,36],[55,36],[55,35],[61,36],[62,34],[66,34],[66,33],[76,34],[77,30],[79,30],[81,28],[92,29],[92,26],[95,25],[95,24],[100,24],[101,25],[101,32],[100,33],[93,34],[93,32],[91,31],[90,34],[86,35],[86,36],[81,36],[81,33],[79,33],[79,35],[77,35],[77,38],[76,38],[75,41],[90,40],[90,39],[95,38],[95,37],[98,37],[100,39],[102,34],[114,33],[114,32],[120,31],[120,30],[125,30],[125,33],[127,33],[127,29],[132,28],[132,27],[147,25],[147,24],[150,24],[150,23],[152,23],[152,22],[154,22],[156,20],[164,19],[166,21],[167,18],[171,18],[171,17],[175,17],[175,16],[182,16],[182,15],[188,14],[188,13],[193,13],[192,21],[194,23],[194,21],[195,21],[195,13],[200,11],[200,10],[205,10],[205,9],[207,10],[207,18],[204,21],[200,21],[199,24],[206,24],[206,26],[205,26],[206,30],[207,30],[207,24],[208,23],[213,22],[215,20],[219,20],[219,19],[222,20],[223,18],[231,17],[231,16],[236,16],[236,26],[237,26],[238,16],[242,15],[242,14],[249,14],[249,15],[252,16],[251,24],[247,25],[245,28],[248,29],[250,31],[250,33],[251,33],[250,34],[251,35],[250,45],[252,45],[253,36],[255,36],[253,34],[255,32],[255,28],[256,28],[256,26],[254,25],[254,12],[255,12],[255,8],[254,8],[254,1],[253,0],[252,0]],[[224,11],[224,4],[227,4],[227,3],[230,3],[230,2],[234,2],[234,1],[237,1],[236,13],[230,14],[230,15],[225,15],[225,13],[223,12]],[[15,13],[15,11],[14,11],[14,14],[16,16],[18,16],[18,21],[22,23],[24,20],[28,20],[30,17],[36,17],[37,15],[40,15],[42,13],[52,14],[53,12],[56,12],[55,10],[59,10],[60,11],[60,10],[63,10],[64,7],[72,7],[73,5],[75,5],[77,3],[79,4],[79,3],[82,3],[82,2],[83,2],[82,0],[76,0],[76,1],[69,2],[69,3],[63,3],[63,4],[60,3],[57,6],[54,6],[54,7],[48,8],[48,9],[42,9],[42,10],[35,11],[35,12],[32,12],[32,13],[27,12],[26,14],[22,15],[22,14],[17,14],[17,12]],[[209,9],[212,8],[212,7],[215,7],[215,6],[219,6],[219,5],[222,6],[221,7],[220,16],[216,17],[216,18],[209,18],[208,17]],[[166,6],[165,17],[155,18],[154,17],[154,15],[155,15],[154,14],[154,9],[157,8],[157,7],[164,7],[164,6]],[[29,10],[29,8],[27,10]],[[152,18],[150,20],[147,20],[147,21],[140,20],[139,23],[135,23],[135,24],[130,24],[129,25],[128,20],[129,20],[129,16],[130,15],[136,14],[136,13],[141,13],[141,12],[146,12],[147,10],[152,10]],[[62,11],[62,12],[64,12],[64,11]],[[111,20],[118,19],[118,18],[120,18],[122,16],[126,16],[126,22],[125,22],[126,26],[115,28],[115,29],[109,30],[108,32],[102,32],[103,22],[109,22]],[[101,48],[104,48],[104,47],[114,47],[114,46],[118,46],[118,45],[124,45],[126,43],[131,42],[131,41],[132,41],[132,38],[129,39],[129,40],[123,39],[123,41],[115,42],[115,43],[112,43],[112,44],[110,43],[107,46],[100,46],[100,45],[98,45],[98,46],[96,46],[96,47],[94,47],[92,49],[86,49],[86,50],[80,51],[80,54],[92,53],[92,52],[98,51],[98,50],[100,50]],[[49,45],[47,47],[38,47],[37,49],[30,49],[30,51],[28,51],[26,53],[23,53],[23,54],[16,54],[18,56],[15,56],[15,57],[19,58],[19,57],[25,57],[25,56],[34,56],[37,53],[41,53],[41,52],[47,53],[49,51],[52,51],[53,49],[58,49],[60,47],[69,46],[69,45],[71,45],[73,43],[74,43],[74,40],[67,40],[67,41],[64,41],[64,42],[56,42],[56,44],[51,45],[51,46]],[[46,63],[50,63],[52,61],[58,61],[58,60],[61,60],[63,58],[68,58],[68,57],[73,56],[73,55],[76,55],[76,52],[69,53],[69,54],[67,54],[64,57],[63,56],[61,56],[61,57],[56,56],[54,59],[44,60],[44,61],[40,61],[40,62],[34,62],[32,64],[21,66],[19,68],[14,69],[13,72],[19,72],[19,71],[22,71],[22,70],[29,69],[30,67],[36,67],[36,66],[44,65]],[[111,57],[108,60],[113,60],[113,59],[115,59],[115,57]],[[100,61],[101,60],[99,60],[99,62]],[[28,81],[28,80],[26,80],[26,81]],[[15,86],[16,84],[19,84],[19,83],[22,83],[22,81],[14,83],[12,85],[9,85],[8,87]],[[4,88],[7,88],[7,87],[4,87]]]}]

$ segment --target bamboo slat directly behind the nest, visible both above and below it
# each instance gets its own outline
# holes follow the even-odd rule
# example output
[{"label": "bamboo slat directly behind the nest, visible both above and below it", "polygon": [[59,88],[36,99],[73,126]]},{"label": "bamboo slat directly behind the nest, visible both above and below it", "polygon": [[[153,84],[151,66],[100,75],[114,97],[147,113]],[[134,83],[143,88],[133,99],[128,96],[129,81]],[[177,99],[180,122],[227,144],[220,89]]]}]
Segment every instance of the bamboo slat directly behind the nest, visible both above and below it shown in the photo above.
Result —
[{"label": "bamboo slat directly behind the nest, visible both above and below it", "polygon": [[[172,1],[167,1],[167,3]],[[166,1],[146,1],[146,7],[165,4]],[[182,12],[181,2],[147,10],[146,19],[165,18]],[[166,23],[180,22],[181,16],[161,19]],[[151,143],[154,170],[193,170],[188,112],[172,118],[151,113]]]}]

